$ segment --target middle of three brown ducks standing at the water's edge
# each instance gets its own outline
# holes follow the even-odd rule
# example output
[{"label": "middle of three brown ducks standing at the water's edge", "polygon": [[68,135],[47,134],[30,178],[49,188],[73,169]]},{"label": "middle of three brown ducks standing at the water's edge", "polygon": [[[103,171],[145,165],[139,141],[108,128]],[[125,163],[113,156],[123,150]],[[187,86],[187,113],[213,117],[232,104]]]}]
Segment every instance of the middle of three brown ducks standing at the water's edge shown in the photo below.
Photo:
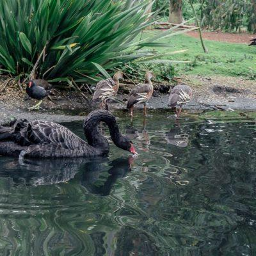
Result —
[{"label": "middle of three brown ducks standing at the water's edge", "polygon": [[133,116],[133,108],[136,104],[144,105],[144,116],[147,116],[147,102],[152,97],[154,92],[154,86],[151,79],[156,78],[154,74],[148,71],[145,74],[145,82],[143,84],[138,84],[132,91],[129,93],[127,99],[127,109],[131,109],[131,116]]}]

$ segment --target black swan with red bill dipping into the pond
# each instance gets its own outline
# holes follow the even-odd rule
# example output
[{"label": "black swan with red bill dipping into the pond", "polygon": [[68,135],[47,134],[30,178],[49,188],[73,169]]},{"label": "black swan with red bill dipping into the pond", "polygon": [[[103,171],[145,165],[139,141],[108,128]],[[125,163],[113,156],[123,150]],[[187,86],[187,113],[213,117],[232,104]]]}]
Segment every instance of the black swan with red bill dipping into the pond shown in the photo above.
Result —
[{"label": "black swan with red bill dipping into the pond", "polygon": [[10,127],[0,126],[0,155],[32,158],[106,156],[108,140],[100,133],[99,123],[109,127],[117,147],[137,154],[132,142],[120,134],[115,116],[106,110],[95,110],[83,124],[86,141],[60,124],[47,121],[14,120]]}]

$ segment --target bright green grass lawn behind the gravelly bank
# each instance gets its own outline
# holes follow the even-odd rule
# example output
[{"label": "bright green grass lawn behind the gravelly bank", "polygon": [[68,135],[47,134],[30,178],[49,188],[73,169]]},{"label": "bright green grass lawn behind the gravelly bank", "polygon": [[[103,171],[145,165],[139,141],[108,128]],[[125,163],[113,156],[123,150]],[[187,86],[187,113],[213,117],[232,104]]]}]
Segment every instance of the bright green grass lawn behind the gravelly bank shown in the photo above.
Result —
[{"label": "bright green grass lawn behind the gravelly bank", "polygon": [[[149,33],[145,33],[147,35],[144,36],[149,36]],[[256,79],[256,47],[205,40],[209,50],[209,53],[205,54],[200,40],[191,36],[177,35],[158,42],[171,45],[170,49],[157,49],[161,53],[188,49],[187,52],[169,57],[170,60],[191,61],[186,64],[175,64],[177,75],[243,76],[246,79]]]}]

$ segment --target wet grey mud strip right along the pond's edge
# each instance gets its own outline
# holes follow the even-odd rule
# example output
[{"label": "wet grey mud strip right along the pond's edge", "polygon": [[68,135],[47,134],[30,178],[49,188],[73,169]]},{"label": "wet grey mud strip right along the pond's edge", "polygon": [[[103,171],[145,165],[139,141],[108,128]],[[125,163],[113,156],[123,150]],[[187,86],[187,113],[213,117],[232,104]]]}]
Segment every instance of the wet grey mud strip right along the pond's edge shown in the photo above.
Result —
[{"label": "wet grey mud strip right along the pond's edge", "polygon": [[[122,97],[120,97],[121,99]],[[150,113],[150,109],[170,109],[167,106],[168,95],[160,95],[158,97],[153,97],[150,102],[148,102],[148,111]],[[209,104],[209,106],[204,106],[205,104]],[[206,109],[216,109],[220,110],[239,110],[241,112],[244,111],[256,111],[256,99],[239,97],[235,102],[228,102],[225,100],[204,100],[204,105],[200,104],[198,99],[192,99],[189,104],[184,106],[184,109],[189,111],[190,113],[198,113],[198,111],[205,111]],[[125,105],[120,103],[111,102],[109,104],[109,108],[111,111],[116,109],[125,109]],[[137,109],[142,109],[142,106],[137,106]],[[0,103],[0,125],[6,124],[10,122],[13,118],[26,118],[29,121],[31,120],[48,120],[52,122],[72,122],[77,120],[84,120],[84,116],[90,112],[88,109],[77,109],[73,112],[79,113],[79,115],[70,115],[70,109],[63,109],[63,111],[67,111],[67,113],[58,114],[58,111],[44,110],[44,111],[33,111],[29,112],[24,109],[13,109],[6,108],[3,103]],[[136,111],[136,110],[134,110]],[[138,110],[140,111],[140,110]],[[68,113],[69,112],[69,113]],[[127,113],[128,115],[128,113]]]}]

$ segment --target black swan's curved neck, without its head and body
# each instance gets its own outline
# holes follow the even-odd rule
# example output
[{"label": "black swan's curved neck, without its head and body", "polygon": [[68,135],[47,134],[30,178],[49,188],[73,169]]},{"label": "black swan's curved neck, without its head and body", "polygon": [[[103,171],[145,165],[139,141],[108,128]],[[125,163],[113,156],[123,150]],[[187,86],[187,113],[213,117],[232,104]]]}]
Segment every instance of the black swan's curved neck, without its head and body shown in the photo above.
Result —
[{"label": "black swan's curved neck, without its head and body", "polygon": [[119,132],[115,117],[108,111],[94,111],[92,114],[86,116],[84,120],[84,135],[88,144],[95,148],[99,155],[103,156],[108,154],[109,144],[108,140],[100,132],[100,122],[105,122],[108,125],[111,139],[117,147],[122,134]]}]

